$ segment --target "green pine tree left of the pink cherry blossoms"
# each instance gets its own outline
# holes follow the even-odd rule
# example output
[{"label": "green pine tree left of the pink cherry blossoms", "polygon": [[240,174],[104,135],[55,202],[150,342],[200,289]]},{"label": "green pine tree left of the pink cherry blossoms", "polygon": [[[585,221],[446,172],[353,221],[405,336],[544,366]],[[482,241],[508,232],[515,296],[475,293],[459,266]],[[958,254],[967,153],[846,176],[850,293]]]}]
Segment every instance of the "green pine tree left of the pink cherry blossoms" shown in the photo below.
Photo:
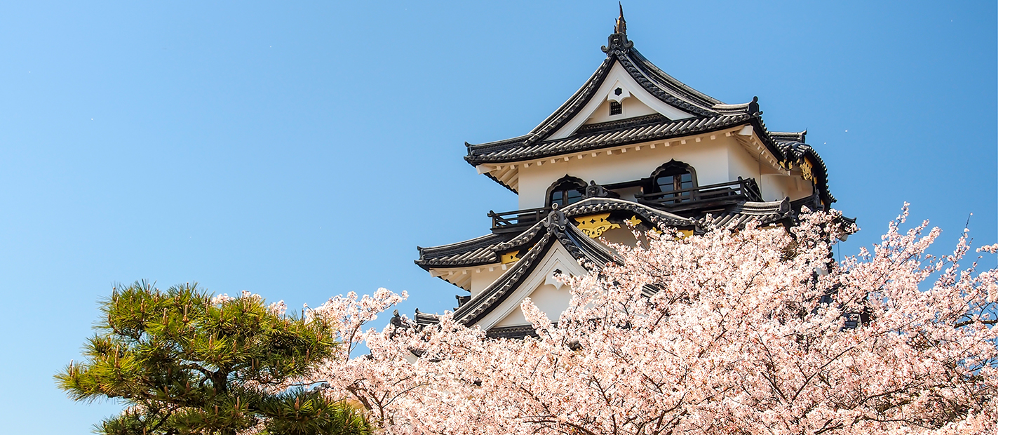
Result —
[{"label": "green pine tree left of the pink cherry blossoms", "polygon": [[290,379],[338,347],[323,319],[286,315],[259,296],[211,297],[196,285],[160,291],[139,282],[101,304],[86,360],[56,375],[76,401],[113,399],[102,434],[364,434],[342,402]]}]

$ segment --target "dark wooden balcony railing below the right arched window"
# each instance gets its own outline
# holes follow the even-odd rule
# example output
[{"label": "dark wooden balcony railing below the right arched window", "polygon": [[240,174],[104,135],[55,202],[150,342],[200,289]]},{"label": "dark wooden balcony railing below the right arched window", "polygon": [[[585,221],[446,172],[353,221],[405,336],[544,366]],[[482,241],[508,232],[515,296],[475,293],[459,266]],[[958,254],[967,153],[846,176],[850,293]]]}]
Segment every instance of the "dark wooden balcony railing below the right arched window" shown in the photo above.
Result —
[{"label": "dark wooden balcony railing below the right arched window", "polygon": [[744,201],[763,201],[754,179],[736,178],[735,182],[699,186],[653,194],[637,194],[638,202],[666,210],[690,210]]}]

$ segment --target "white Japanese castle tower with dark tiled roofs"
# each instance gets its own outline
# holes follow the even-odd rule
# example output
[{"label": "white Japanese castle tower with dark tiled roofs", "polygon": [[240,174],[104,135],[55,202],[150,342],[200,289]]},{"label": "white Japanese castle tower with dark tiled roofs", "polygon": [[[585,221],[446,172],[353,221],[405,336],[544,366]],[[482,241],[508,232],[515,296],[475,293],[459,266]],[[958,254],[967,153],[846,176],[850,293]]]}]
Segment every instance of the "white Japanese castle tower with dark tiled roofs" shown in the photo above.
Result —
[{"label": "white Japanese castle tower with dark tiled roofs", "polygon": [[[670,77],[626,29],[622,12],[600,68],[532,131],[467,143],[467,162],[518,194],[520,210],[488,213],[490,234],[418,247],[419,266],[468,293],[452,314],[466,325],[492,337],[531,334],[525,298],[558,319],[570,295],[554,274],[620,261],[600,238],[634,244],[629,223],[687,235],[707,216],[717,226],[788,226],[801,207],[835,201],[806,131],[770,131],[756,97],[725,104]],[[437,322],[420,312],[414,320]]]}]

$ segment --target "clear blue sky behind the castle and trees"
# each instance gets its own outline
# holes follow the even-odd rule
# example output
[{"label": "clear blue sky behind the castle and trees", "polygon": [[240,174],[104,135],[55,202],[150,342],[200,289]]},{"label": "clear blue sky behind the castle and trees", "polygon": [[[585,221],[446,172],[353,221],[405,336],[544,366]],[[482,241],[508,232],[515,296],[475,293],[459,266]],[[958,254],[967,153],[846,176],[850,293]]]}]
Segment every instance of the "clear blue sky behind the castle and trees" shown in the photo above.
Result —
[{"label": "clear blue sky behind the castle and trees", "polygon": [[[414,246],[487,232],[515,196],[465,140],[527,132],[604,59],[616,1],[7,2],[0,6],[0,420],[86,433],[115,404],[53,374],[111,285],[248,290],[289,306],[462,291]],[[808,129],[873,243],[903,201],[996,241],[995,2],[624,2],[645,57]],[[994,265],[995,261],[990,261]],[[384,322],[386,319],[381,319]],[[380,322],[380,323],[382,323]]]}]

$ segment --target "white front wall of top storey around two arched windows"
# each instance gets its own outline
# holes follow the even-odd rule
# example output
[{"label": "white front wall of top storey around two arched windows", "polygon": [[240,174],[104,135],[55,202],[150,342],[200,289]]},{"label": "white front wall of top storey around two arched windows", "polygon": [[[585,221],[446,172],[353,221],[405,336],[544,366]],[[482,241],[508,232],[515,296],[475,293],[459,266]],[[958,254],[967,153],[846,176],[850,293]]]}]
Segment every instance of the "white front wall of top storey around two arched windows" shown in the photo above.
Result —
[{"label": "white front wall of top storey around two arched windows", "polygon": [[[736,176],[729,177],[728,149],[738,145],[732,138],[721,133],[714,140],[709,137],[705,136],[701,142],[692,138],[683,145],[680,140],[673,140],[670,146],[661,143],[654,149],[643,146],[641,150],[635,151],[634,146],[631,146],[624,153],[615,151],[607,155],[606,152],[601,152],[595,157],[585,155],[583,158],[571,157],[569,161],[560,159],[542,166],[520,166],[518,208],[543,207],[547,189],[566,175],[578,177],[586,183],[595,181],[600,185],[628,182],[646,178],[656,168],[675,158],[694,167],[700,185],[736,180]],[[634,201],[633,197],[622,199]]]}]

